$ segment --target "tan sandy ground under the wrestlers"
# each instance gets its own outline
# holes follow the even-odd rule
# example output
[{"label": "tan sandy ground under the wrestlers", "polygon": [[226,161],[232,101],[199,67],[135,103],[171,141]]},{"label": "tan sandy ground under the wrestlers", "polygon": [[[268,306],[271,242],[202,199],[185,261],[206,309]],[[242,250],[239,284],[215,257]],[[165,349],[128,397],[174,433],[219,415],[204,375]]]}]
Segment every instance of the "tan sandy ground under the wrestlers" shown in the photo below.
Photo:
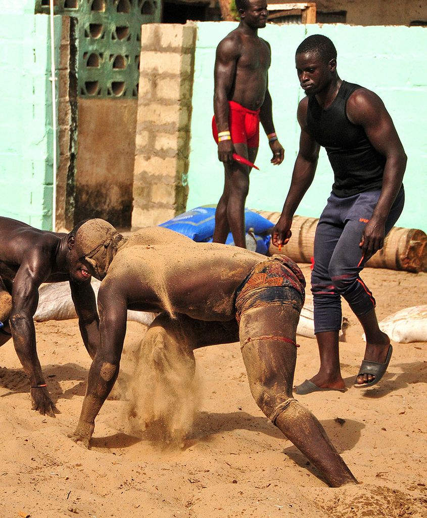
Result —
[{"label": "tan sandy ground under the wrestlers", "polygon": [[[301,265],[307,279],[308,265]],[[379,318],[427,304],[427,274],[368,268]],[[0,518],[306,518],[427,516],[427,342],[394,344],[388,372],[370,390],[352,388],[364,346],[348,307],[341,344],[345,393],[299,396],[361,482],[329,488],[261,413],[249,392],[239,344],[196,351],[198,411],[181,447],[130,432],[128,402],[106,401],[92,450],[73,443],[90,358],[76,320],[36,324],[38,352],[61,413],[31,410],[11,341],[0,349]],[[128,326],[126,365],[145,328]],[[317,372],[314,339],[299,338],[296,383]],[[135,380],[135,378],[134,378]]]}]

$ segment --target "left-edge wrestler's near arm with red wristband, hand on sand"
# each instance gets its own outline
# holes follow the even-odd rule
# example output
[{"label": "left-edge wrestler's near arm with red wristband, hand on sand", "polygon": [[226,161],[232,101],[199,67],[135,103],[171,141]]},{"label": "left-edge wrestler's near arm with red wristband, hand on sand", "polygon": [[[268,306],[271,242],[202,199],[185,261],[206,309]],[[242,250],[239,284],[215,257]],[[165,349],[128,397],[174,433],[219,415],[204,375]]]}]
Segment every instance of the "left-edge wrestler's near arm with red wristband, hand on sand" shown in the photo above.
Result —
[{"label": "left-edge wrestler's near arm with red wristband, hand on sand", "polygon": [[56,409],[41,371],[36,349],[33,315],[38,305],[38,289],[50,274],[51,257],[41,248],[34,248],[24,258],[13,281],[12,311],[9,317],[13,345],[22,367],[30,378],[33,410],[55,416]]}]

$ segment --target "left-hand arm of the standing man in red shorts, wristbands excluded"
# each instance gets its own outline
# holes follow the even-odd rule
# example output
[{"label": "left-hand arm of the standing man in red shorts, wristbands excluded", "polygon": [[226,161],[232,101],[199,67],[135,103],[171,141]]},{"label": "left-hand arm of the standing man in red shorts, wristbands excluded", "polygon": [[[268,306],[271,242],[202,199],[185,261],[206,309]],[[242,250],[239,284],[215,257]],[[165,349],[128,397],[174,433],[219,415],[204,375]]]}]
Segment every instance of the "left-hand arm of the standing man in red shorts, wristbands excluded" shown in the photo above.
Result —
[{"label": "left-hand arm of the standing man in red shorts, wristbands excluded", "polygon": [[[228,131],[228,96],[233,87],[237,61],[240,57],[238,38],[227,37],[216,48],[214,67],[214,113],[218,133]],[[233,161],[233,143],[231,140],[218,142],[220,162]]]}]

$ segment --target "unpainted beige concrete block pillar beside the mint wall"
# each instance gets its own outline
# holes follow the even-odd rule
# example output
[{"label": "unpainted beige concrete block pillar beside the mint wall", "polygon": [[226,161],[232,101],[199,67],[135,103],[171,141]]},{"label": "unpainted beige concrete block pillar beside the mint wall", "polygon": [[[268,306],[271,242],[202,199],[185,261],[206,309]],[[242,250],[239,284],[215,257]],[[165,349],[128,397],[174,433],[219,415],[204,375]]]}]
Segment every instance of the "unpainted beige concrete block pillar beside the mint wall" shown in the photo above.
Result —
[{"label": "unpainted beige concrete block pillar beside the mint wall", "polygon": [[194,24],[142,26],[132,228],[185,210]]}]

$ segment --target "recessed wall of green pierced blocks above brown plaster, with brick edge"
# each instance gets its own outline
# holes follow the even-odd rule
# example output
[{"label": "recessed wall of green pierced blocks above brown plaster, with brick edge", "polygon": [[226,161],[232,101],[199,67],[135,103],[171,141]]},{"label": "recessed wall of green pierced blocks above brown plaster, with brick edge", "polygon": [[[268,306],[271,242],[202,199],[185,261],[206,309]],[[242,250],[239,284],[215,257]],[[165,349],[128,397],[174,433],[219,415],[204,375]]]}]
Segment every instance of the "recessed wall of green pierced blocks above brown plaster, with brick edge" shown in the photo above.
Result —
[{"label": "recessed wall of green pierced blocks above brown plaster, with brick edge", "polygon": [[[57,228],[70,229],[91,217],[130,228],[139,35],[141,23],[156,17],[160,4],[153,16],[142,13],[150,7],[144,4],[141,11],[138,5],[80,2],[79,9],[73,10],[70,3],[60,3],[64,30]],[[127,8],[129,12],[124,12]],[[122,37],[125,33],[126,38]]]}]

